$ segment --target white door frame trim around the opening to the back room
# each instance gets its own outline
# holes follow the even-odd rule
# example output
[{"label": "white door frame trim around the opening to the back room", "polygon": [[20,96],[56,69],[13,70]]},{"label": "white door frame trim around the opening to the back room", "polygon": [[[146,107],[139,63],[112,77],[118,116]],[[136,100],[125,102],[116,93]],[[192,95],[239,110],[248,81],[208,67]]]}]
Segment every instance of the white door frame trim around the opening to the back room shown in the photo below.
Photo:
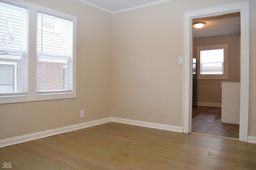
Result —
[{"label": "white door frame trim around the opening to the back room", "polygon": [[184,15],[184,109],[183,132],[192,130],[192,20],[240,12],[241,18],[241,88],[240,88],[240,128],[239,140],[248,138],[249,103],[249,7],[248,2],[240,2],[185,12]]}]

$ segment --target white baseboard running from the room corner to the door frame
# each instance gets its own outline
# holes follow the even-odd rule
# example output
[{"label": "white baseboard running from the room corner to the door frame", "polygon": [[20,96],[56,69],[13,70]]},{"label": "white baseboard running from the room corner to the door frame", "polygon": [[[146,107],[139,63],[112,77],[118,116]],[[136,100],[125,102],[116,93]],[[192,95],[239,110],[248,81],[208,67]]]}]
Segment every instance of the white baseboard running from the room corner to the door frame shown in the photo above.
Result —
[{"label": "white baseboard running from the room corner to the door frame", "polygon": [[136,125],[136,126],[142,126],[142,127],[150,127],[154,129],[162,129],[167,131],[174,131],[174,132],[182,132],[183,128],[180,126],[171,126],[171,125],[164,125],[164,124],[158,124],[158,123],[150,123],[145,121],[136,121],[131,119],[122,119],[118,117],[112,117],[112,121],[117,123],[124,123],[129,125]]}]

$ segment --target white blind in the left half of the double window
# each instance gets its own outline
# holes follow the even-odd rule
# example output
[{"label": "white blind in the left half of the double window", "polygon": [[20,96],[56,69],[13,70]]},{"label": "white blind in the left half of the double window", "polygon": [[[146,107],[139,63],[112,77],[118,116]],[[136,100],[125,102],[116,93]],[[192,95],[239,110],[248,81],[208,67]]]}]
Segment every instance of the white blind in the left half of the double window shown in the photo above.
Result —
[{"label": "white blind in the left half of the double window", "polygon": [[27,95],[28,10],[0,2],[0,96]]}]

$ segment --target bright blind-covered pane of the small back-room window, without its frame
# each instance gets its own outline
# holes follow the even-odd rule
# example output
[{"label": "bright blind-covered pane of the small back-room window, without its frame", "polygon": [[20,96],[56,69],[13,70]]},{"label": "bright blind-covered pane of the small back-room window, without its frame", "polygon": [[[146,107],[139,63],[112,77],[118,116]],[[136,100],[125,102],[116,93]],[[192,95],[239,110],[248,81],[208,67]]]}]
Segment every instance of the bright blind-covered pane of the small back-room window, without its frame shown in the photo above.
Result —
[{"label": "bright blind-covered pane of the small back-room window, without its frame", "polygon": [[200,51],[200,74],[224,74],[224,49]]}]

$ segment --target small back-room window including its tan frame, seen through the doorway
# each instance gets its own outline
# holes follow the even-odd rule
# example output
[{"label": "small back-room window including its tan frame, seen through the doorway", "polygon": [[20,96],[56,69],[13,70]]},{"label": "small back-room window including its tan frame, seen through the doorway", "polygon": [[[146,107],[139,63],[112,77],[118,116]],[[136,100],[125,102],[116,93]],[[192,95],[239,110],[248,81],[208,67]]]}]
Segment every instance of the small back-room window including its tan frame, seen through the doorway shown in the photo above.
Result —
[{"label": "small back-room window including its tan frame, seen through the doorway", "polygon": [[197,47],[198,79],[228,79],[228,45]]}]

